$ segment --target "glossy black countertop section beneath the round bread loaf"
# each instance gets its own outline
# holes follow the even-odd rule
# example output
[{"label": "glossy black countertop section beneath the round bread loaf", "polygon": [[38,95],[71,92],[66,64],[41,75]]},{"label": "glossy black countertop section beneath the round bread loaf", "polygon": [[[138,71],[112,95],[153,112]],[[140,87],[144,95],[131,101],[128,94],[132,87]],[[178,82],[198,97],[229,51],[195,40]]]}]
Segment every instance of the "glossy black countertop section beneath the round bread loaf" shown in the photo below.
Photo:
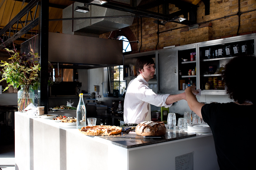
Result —
[{"label": "glossy black countertop section beneath the round bread loaf", "polygon": [[[137,134],[125,134],[122,132],[122,135],[125,137],[141,137]],[[195,133],[188,133],[176,130],[175,132],[166,132],[165,136],[160,139],[139,139],[139,138],[122,138],[122,137],[104,137],[104,136],[96,136],[102,139],[106,139],[114,145],[121,146],[124,148],[133,148],[139,146],[146,146],[151,144],[158,144],[162,142],[174,141],[178,139],[184,139],[188,137],[196,136]],[[95,137],[95,136],[94,136]]]}]

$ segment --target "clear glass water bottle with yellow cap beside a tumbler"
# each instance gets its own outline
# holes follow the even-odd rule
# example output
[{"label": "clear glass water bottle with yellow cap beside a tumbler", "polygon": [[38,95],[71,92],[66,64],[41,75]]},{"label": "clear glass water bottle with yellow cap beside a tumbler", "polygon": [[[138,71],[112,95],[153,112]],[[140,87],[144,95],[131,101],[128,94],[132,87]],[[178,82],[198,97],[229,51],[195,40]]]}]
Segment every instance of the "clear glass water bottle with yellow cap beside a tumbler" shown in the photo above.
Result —
[{"label": "clear glass water bottle with yellow cap beside a tumbler", "polygon": [[76,127],[82,128],[86,126],[86,108],[84,105],[83,94],[79,94],[79,102],[76,109]]}]

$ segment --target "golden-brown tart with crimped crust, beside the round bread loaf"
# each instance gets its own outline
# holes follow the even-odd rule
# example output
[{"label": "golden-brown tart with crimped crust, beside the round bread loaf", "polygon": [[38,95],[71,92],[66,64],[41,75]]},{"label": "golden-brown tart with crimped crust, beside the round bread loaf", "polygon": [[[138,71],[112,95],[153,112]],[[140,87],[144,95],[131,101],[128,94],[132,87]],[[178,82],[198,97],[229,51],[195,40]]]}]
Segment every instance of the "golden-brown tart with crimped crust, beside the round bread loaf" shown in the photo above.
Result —
[{"label": "golden-brown tart with crimped crust, beside the round bread loaf", "polygon": [[79,130],[82,134],[89,136],[116,135],[122,132],[121,127],[106,125],[86,126]]}]

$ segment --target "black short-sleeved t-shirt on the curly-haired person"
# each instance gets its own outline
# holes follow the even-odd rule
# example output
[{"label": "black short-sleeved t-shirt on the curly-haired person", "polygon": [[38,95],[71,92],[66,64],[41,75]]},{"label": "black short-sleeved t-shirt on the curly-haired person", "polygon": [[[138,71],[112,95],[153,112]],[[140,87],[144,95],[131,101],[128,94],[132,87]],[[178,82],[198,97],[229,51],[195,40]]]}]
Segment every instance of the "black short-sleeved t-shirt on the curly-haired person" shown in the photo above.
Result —
[{"label": "black short-sleeved t-shirt on the curly-haired person", "polygon": [[211,103],[205,104],[201,113],[212,130],[220,170],[254,169],[255,105]]}]

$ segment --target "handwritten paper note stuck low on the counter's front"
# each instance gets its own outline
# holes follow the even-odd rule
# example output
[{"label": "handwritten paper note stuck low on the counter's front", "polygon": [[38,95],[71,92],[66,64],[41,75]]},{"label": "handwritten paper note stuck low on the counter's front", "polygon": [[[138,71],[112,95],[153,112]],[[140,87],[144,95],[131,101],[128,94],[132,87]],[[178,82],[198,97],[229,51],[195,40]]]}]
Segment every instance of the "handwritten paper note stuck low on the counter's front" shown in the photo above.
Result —
[{"label": "handwritten paper note stuck low on the counter's front", "polygon": [[193,170],[194,152],[175,157],[175,170]]}]

